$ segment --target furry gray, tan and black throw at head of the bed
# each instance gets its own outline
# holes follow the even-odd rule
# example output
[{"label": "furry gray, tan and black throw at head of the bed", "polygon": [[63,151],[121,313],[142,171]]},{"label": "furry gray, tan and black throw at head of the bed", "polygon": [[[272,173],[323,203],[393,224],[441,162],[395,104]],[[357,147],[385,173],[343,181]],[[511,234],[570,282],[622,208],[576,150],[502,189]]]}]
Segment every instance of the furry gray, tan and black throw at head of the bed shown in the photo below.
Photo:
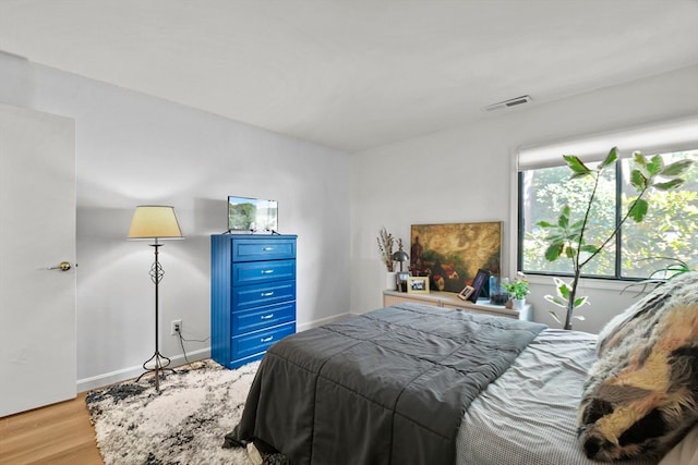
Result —
[{"label": "furry gray, tan and black throw at head of the bed", "polygon": [[579,409],[587,456],[661,457],[698,423],[698,273],[614,318],[598,353]]}]

